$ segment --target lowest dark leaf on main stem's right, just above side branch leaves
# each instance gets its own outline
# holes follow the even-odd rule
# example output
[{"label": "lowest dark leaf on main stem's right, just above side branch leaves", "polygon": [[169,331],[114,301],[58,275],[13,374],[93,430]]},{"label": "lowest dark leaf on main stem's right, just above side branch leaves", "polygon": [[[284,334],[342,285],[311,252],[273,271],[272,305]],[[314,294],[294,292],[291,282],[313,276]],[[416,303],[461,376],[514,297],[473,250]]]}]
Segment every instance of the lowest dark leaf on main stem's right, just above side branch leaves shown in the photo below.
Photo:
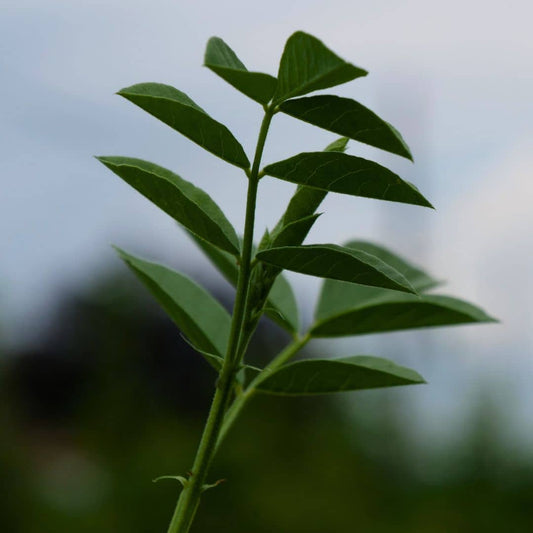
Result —
[{"label": "lowest dark leaf on main stem's right, just above side branch leaves", "polygon": [[265,263],[310,276],[415,292],[402,274],[381,259],[363,251],[334,244],[271,248],[259,252],[257,258]]}]

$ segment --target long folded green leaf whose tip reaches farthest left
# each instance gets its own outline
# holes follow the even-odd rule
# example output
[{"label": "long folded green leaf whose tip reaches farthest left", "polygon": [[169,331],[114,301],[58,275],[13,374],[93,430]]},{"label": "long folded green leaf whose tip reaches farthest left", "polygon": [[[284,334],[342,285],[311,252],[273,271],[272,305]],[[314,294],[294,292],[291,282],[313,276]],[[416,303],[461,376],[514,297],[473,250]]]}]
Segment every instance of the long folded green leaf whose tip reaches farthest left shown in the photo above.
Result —
[{"label": "long folded green leaf whose tip reaches farthest left", "polygon": [[211,197],[192,183],[142,159],[97,159],[201,239],[234,255],[240,253],[233,226]]}]

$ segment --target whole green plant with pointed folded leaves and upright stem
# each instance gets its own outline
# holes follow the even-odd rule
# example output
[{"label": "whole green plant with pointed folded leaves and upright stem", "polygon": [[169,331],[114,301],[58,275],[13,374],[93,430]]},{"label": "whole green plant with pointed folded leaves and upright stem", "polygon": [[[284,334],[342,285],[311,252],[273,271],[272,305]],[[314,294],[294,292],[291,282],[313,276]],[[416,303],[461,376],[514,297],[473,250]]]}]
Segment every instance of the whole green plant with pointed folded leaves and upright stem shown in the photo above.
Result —
[{"label": "whole green plant with pointed folded leaves and upright stem", "polygon": [[[414,370],[368,355],[291,362],[310,340],[493,321],[464,301],[428,294],[436,280],[382,246],[365,241],[343,246],[303,244],[328,192],[432,207],[414,185],[397,174],[345,153],[348,140],[353,139],[412,160],[393,126],[349,98],[305,96],[366,76],[365,70],[303,32],[288,39],[277,78],[247,70],[218,37],[207,43],[205,66],[264,109],[251,162],[228,128],[178,89],[141,83],[118,94],[244,172],[248,193],[242,238],[207,193],[174,172],[131,157],[98,157],[173,217],[236,287],[230,315],[183,274],[118,249],[190,344],[218,373],[191,470],[172,476],[182,489],[169,533],[189,531],[202,493],[216,485],[207,479],[216,451],[255,394],[323,394],[424,382]],[[278,113],[342,137],[323,151],[301,153],[261,168],[269,126]],[[294,183],[296,190],[281,219],[256,246],[258,185],[270,177]],[[300,329],[296,301],[283,270],[325,278],[314,322],[305,332]],[[292,340],[260,369],[247,364],[246,352],[263,314],[287,330]]]}]

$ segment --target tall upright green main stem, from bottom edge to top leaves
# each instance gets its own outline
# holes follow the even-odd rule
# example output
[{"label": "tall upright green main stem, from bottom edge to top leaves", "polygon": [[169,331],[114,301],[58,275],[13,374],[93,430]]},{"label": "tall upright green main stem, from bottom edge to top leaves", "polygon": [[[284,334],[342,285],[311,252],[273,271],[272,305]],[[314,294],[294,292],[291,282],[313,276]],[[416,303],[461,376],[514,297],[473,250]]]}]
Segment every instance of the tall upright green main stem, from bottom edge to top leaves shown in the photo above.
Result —
[{"label": "tall upright green main stem, from bottom edge to top leaves", "polygon": [[245,304],[250,285],[259,166],[261,165],[261,157],[273,114],[274,112],[270,108],[265,108],[265,116],[263,117],[257,139],[252,169],[248,175],[248,195],[246,200],[241,266],[239,269],[237,293],[233,307],[231,330],[226,357],[224,358],[224,366],[219,375],[217,389],[196,452],[192,472],[188,482],[181,491],[168,528],[168,533],[187,533],[191,527],[204,490],[203,487],[206,482],[207,473],[216,451],[216,444],[226,412],[226,406],[228,405],[233,390],[233,380],[239,368],[239,341],[245,319]]}]

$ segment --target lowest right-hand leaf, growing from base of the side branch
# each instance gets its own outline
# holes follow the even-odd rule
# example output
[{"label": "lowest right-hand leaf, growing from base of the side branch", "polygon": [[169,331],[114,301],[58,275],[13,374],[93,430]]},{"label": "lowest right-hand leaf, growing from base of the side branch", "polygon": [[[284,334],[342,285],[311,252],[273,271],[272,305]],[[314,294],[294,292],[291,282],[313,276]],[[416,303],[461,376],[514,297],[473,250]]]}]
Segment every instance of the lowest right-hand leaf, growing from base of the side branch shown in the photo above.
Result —
[{"label": "lowest right-hand leaf, growing from base of the side branch", "polygon": [[258,384],[257,390],[270,394],[301,395],[418,383],[425,381],[414,370],[381,357],[354,355],[290,363],[269,375]]}]

